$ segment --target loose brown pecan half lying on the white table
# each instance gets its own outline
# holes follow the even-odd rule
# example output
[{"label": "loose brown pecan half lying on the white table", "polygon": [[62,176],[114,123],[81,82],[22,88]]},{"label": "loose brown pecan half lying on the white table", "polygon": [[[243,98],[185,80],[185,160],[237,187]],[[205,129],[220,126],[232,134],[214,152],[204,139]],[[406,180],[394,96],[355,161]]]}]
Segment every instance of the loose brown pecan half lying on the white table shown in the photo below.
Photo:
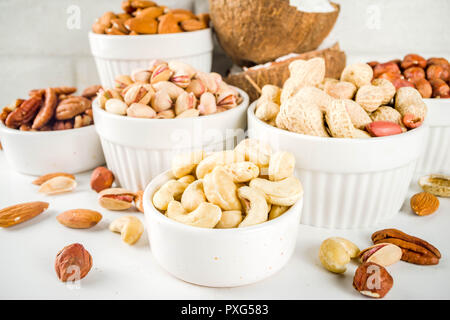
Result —
[{"label": "loose brown pecan half lying on the white table", "polygon": [[402,260],[419,264],[438,264],[441,253],[433,245],[397,229],[384,229],[372,234],[374,244],[392,243],[402,249]]}]

